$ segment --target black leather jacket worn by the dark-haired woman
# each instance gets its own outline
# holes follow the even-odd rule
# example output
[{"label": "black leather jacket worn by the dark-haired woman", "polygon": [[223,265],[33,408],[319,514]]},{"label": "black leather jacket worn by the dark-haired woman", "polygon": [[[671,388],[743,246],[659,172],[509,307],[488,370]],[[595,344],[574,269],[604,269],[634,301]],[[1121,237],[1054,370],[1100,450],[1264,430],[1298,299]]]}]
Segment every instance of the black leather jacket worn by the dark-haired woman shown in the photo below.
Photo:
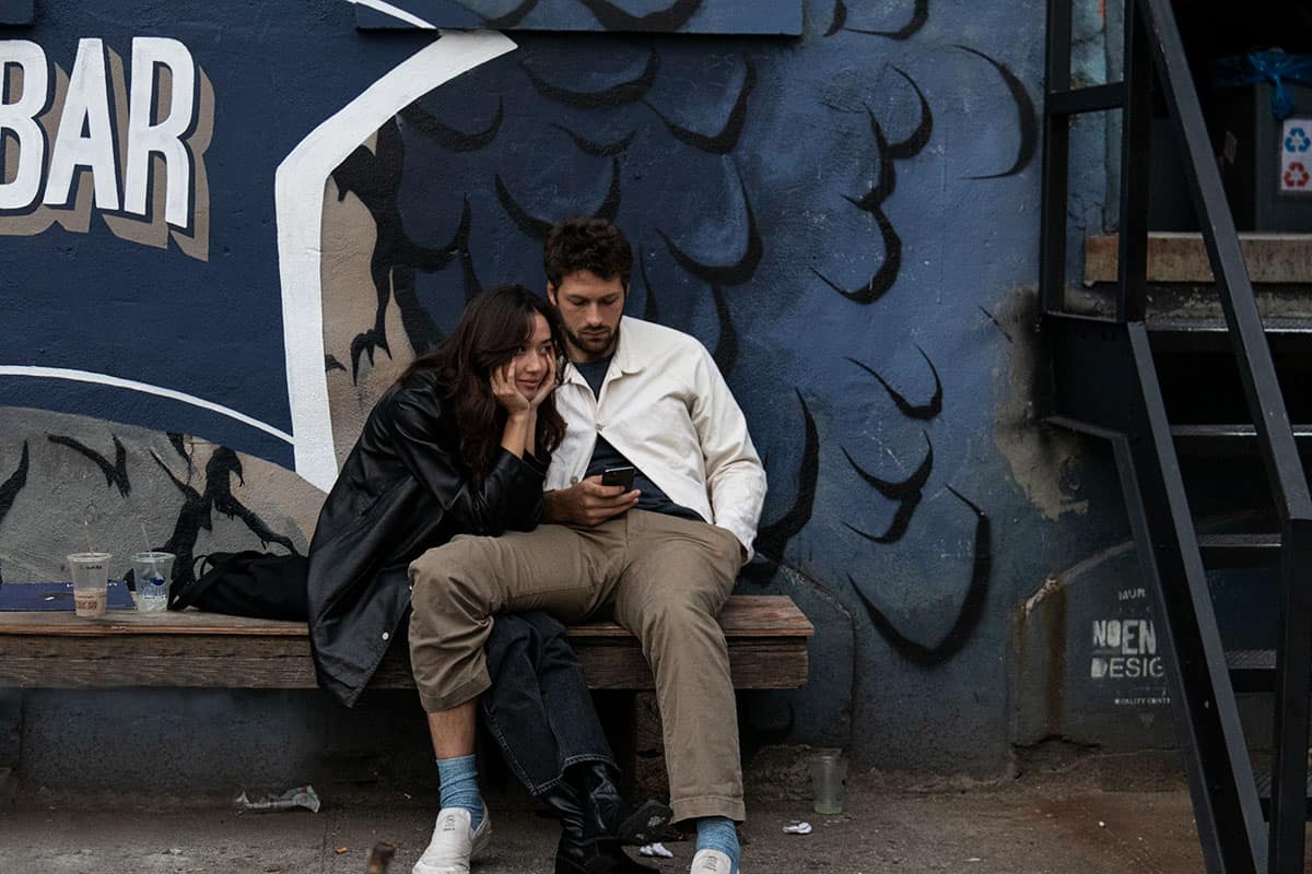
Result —
[{"label": "black leather jacket worn by the dark-haired woman", "polygon": [[534,528],[547,463],[500,449],[475,485],[433,372],[388,389],[346,457],[310,542],[310,642],[319,685],[354,705],[404,632],[409,563],[459,533]]}]

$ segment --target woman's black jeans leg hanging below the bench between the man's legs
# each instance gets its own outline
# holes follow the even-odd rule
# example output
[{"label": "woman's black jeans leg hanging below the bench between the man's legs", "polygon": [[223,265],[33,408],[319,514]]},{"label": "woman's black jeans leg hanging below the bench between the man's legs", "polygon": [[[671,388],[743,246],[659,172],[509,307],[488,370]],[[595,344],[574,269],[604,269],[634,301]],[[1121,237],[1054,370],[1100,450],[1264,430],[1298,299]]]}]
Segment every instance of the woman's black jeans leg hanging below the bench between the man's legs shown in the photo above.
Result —
[{"label": "woman's black jeans leg hanging below the bench between the man's legs", "polygon": [[492,688],[479,698],[483,722],[531,794],[580,761],[615,767],[564,625],[542,611],[500,615],[484,653]]}]

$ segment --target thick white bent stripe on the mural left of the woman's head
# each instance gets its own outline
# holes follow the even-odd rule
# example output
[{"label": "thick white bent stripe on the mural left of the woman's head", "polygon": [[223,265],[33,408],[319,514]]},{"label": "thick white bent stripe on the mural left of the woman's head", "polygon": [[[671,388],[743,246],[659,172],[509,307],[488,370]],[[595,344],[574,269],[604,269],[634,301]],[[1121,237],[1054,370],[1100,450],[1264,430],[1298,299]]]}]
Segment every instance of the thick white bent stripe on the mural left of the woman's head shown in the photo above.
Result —
[{"label": "thick white bent stripe on the mural left of the woman's head", "polygon": [[282,330],[297,473],[324,491],[337,478],[324,368],[320,280],[323,199],[328,174],[401,109],[438,85],[516,47],[504,34],[492,30],[438,33],[441,37],[433,45],[403,62],[316,127],[278,165],[274,178]]}]

